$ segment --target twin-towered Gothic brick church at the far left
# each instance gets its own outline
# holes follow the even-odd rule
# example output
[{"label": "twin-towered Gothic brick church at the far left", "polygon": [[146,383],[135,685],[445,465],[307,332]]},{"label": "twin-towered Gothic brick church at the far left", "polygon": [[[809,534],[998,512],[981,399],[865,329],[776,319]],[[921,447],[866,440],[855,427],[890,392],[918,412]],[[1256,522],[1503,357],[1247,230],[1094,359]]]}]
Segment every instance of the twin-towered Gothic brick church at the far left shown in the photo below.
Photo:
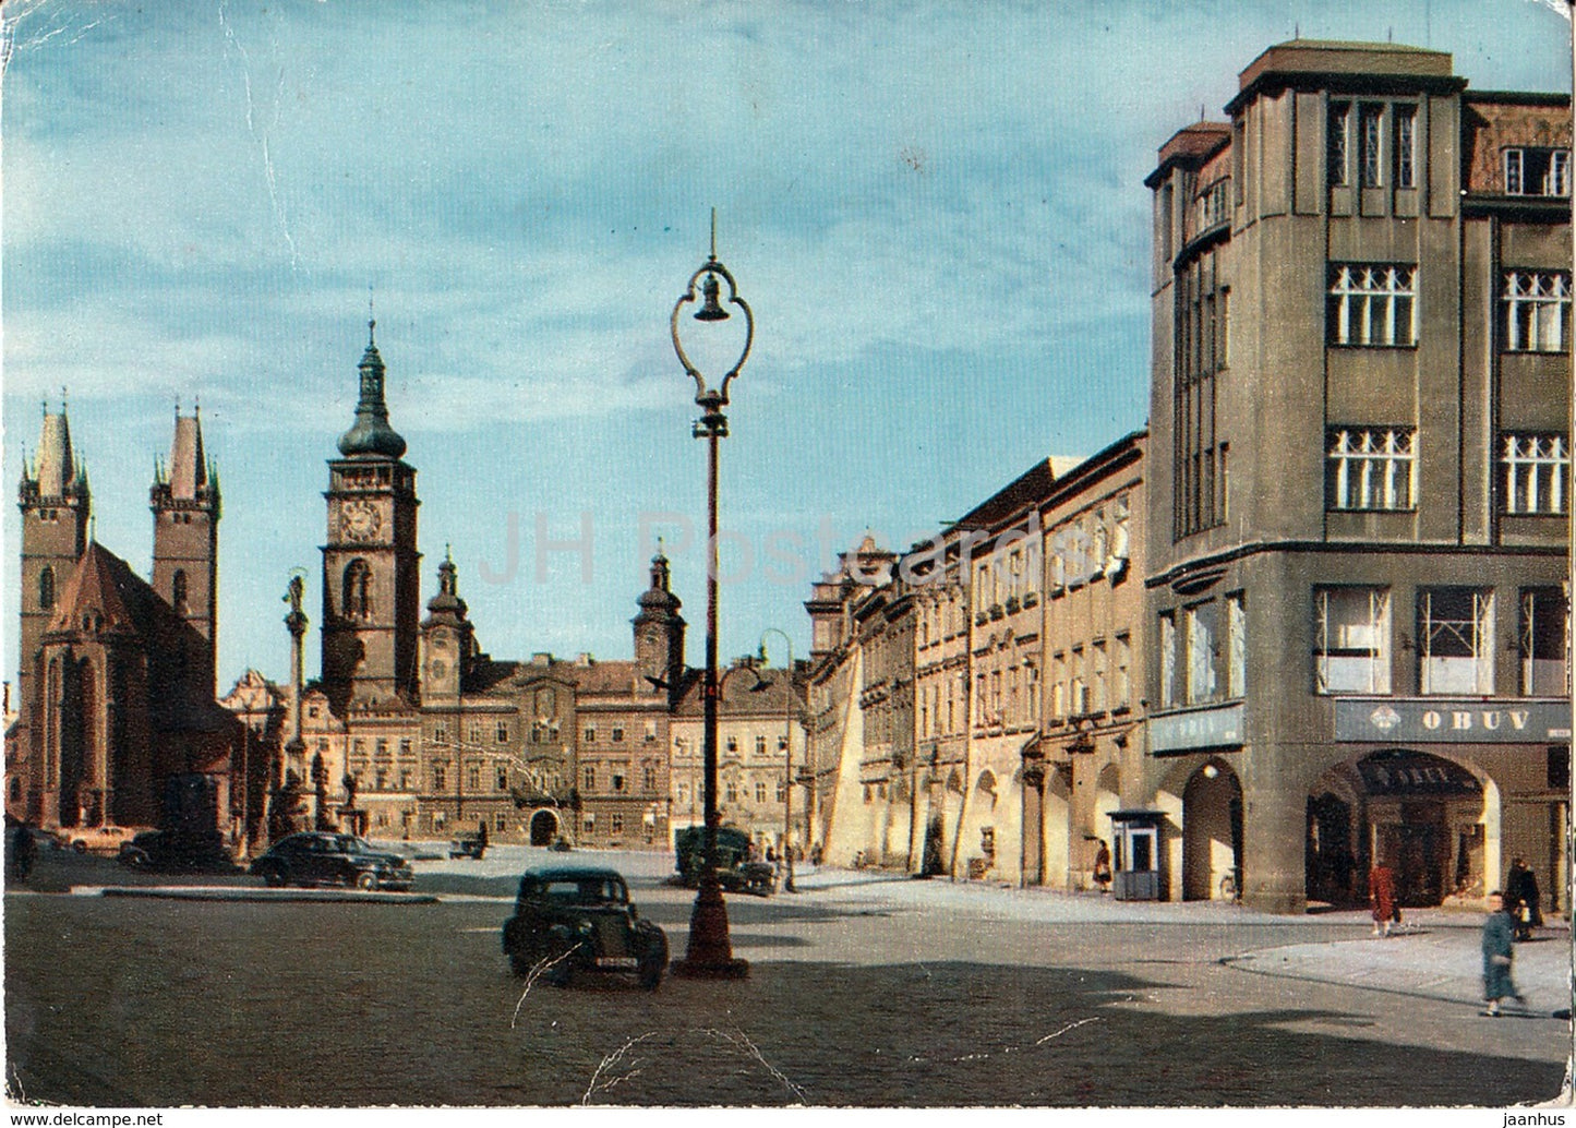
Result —
[{"label": "twin-towered Gothic brick church at the far left", "polygon": [[65,408],[22,471],[19,718],[6,811],[47,829],[229,829],[241,726],[214,701],[219,482],[197,414],[154,471],[153,577],[91,534]]}]

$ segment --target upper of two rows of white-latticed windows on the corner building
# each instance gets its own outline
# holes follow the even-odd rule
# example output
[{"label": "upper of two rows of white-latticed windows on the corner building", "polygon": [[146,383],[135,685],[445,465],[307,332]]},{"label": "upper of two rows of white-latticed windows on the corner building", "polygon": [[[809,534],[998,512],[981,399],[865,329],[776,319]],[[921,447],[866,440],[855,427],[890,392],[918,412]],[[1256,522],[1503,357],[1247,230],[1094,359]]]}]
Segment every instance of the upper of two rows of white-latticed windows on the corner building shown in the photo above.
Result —
[{"label": "upper of two rows of white-latticed windows on the corner building", "polygon": [[[1329,269],[1325,329],[1332,345],[1404,348],[1417,343],[1415,265],[1330,263]],[[1570,342],[1570,274],[1505,271],[1500,309],[1504,351],[1563,353]]]}]

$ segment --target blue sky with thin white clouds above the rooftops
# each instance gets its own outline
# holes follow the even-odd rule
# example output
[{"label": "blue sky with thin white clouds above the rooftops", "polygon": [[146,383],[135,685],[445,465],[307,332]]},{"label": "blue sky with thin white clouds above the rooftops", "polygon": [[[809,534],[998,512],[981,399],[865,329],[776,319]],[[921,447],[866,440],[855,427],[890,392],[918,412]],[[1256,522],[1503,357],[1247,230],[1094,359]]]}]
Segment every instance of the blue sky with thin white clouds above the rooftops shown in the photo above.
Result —
[{"label": "blue sky with thin white clouds above the rooftops", "polygon": [[[704,444],[668,318],[716,208],[755,314],[720,649],[777,629],[802,657],[834,551],[1146,424],[1143,178],[1267,46],[1393,38],[1477,90],[1570,90],[1563,0],[9,0],[0,24],[6,488],[65,389],[96,537],[147,575],[154,458],[200,403],[221,692],[287,676],[293,569],[317,671],[369,291],[422,602],[449,547],[495,657],[629,657],[660,534],[700,663]],[[693,334],[738,320],[682,325],[714,380],[738,340]],[[6,503],[6,671],[19,528]]]}]

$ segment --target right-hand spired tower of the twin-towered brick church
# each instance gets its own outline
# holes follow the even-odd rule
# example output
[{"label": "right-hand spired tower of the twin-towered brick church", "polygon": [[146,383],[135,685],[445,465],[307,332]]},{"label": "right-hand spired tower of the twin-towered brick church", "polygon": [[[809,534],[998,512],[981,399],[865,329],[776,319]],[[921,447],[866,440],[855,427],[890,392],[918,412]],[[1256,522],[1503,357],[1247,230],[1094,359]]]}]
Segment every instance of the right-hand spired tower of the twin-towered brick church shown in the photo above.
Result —
[{"label": "right-hand spired tower of the twin-towered brick church", "polygon": [[202,449],[197,411],[175,411],[170,460],[156,465],[153,488],[153,589],[208,640],[203,676],[214,692],[219,632],[219,476]]}]

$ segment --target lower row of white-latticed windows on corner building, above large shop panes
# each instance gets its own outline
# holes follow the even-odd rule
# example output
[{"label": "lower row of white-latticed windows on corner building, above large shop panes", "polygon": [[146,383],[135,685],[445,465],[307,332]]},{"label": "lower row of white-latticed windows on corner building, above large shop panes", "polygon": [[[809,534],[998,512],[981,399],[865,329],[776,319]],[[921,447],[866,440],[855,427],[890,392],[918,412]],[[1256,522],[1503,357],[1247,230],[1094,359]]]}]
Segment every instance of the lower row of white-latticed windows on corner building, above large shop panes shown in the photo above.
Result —
[{"label": "lower row of white-latticed windows on corner building, above large shop panes", "polygon": [[[1332,510],[1417,509],[1417,430],[1332,427],[1325,444],[1325,506]],[[1568,512],[1570,441],[1513,432],[1499,438],[1499,503],[1505,515]]]}]

